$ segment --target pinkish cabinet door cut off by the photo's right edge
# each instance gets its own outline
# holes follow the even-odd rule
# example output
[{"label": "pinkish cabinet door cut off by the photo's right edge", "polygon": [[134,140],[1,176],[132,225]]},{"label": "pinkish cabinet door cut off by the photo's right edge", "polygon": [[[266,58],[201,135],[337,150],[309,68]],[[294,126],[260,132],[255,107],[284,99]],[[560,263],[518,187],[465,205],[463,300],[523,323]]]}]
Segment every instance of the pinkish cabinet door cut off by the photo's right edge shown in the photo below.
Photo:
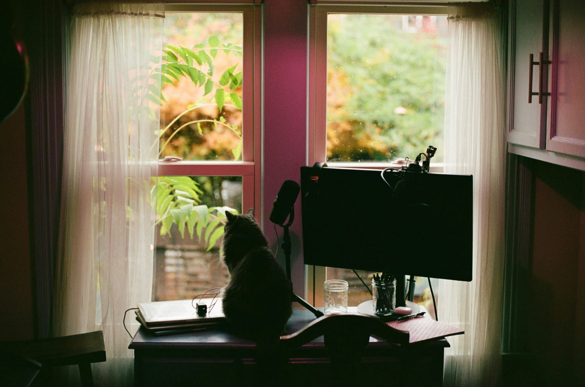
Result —
[{"label": "pinkish cabinet door cut off by the photo's right edge", "polygon": [[552,97],[546,149],[585,157],[585,7],[552,2]]}]

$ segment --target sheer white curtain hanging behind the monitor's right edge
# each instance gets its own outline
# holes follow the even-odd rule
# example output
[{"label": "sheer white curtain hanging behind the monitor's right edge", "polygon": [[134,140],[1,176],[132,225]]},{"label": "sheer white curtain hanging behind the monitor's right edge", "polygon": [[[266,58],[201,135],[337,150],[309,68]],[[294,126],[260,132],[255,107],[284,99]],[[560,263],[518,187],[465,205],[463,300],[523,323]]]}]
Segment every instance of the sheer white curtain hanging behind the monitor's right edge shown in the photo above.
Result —
[{"label": "sheer white curtain hanging behind the monitor's right edge", "polygon": [[493,6],[449,7],[445,172],[473,175],[473,281],[441,281],[449,338],[445,385],[495,385],[500,370],[504,262],[504,76]]}]

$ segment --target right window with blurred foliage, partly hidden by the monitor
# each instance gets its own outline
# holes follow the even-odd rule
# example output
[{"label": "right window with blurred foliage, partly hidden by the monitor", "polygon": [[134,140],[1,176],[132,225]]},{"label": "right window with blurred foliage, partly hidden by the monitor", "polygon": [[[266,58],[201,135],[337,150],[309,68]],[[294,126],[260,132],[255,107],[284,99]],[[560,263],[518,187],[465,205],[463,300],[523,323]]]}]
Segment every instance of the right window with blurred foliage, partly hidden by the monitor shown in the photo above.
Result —
[{"label": "right window with blurred foliage, partly hidden by the monitor", "polygon": [[[309,165],[386,168],[433,145],[431,171],[442,172],[446,33],[445,7],[311,7]],[[315,304],[329,278],[349,282],[350,306],[371,299],[352,270],[307,271]],[[359,275],[371,284],[373,273]],[[426,304],[426,278],[417,285]]]}]

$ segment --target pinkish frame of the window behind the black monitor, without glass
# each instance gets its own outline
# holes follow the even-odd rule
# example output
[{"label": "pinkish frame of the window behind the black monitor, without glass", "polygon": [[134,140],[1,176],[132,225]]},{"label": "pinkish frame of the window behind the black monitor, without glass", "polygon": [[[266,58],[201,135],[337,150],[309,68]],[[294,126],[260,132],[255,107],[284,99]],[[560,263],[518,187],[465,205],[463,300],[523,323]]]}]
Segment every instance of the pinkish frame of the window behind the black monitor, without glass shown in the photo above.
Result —
[{"label": "pinkish frame of the window behind the black monitor, without glass", "polygon": [[[442,5],[309,5],[308,15],[308,89],[307,89],[307,165],[326,162],[327,141],[327,17],[331,13],[390,14],[390,15],[448,15]],[[421,151],[424,151],[422,149]],[[339,168],[400,168],[386,162],[328,162]],[[433,163],[429,172],[442,173],[443,163]],[[315,306],[323,306],[323,287],[326,267],[305,265],[305,294]]]}]

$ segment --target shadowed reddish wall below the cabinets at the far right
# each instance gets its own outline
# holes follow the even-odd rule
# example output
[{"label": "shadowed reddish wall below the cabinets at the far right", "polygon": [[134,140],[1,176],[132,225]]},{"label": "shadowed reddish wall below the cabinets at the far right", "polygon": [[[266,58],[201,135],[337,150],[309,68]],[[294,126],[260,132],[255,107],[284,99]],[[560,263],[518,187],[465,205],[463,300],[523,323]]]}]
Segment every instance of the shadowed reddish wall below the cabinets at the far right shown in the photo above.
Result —
[{"label": "shadowed reddish wall below the cabinets at the far right", "polygon": [[[535,163],[534,253],[529,289],[533,377],[567,384],[583,364],[584,173]],[[536,379],[535,379],[536,380]]]}]

